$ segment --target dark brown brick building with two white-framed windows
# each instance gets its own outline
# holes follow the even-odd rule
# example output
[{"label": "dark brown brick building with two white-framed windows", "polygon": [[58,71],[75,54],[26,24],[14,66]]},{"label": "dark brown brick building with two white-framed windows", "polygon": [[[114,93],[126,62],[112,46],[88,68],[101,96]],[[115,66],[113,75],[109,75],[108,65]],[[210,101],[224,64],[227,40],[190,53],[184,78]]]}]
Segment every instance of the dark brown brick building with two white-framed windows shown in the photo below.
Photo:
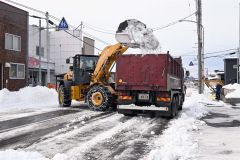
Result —
[{"label": "dark brown brick building with two white-framed windows", "polygon": [[27,85],[28,12],[0,1],[0,89]]}]

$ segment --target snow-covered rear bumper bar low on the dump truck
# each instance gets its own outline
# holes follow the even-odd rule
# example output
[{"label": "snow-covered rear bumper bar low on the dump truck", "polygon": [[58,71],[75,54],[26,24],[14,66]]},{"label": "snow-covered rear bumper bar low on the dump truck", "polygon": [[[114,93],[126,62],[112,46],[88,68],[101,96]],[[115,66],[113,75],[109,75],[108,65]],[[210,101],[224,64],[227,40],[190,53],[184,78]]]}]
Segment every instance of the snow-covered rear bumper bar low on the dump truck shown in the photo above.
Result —
[{"label": "snow-covered rear bumper bar low on the dump truck", "polygon": [[169,107],[119,105],[118,110],[168,111]]}]

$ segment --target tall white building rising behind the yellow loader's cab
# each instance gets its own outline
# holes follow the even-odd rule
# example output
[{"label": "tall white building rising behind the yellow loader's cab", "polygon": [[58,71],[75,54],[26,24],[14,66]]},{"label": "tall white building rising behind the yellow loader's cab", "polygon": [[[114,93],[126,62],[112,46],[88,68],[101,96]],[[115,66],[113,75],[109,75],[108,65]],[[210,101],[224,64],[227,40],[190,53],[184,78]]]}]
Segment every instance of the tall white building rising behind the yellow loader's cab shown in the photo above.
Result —
[{"label": "tall white building rising behind the yellow loader's cab", "polygon": [[[63,74],[69,70],[71,64],[66,64],[66,59],[76,54],[94,55],[94,40],[83,37],[82,43],[79,30],[68,30],[70,34],[64,31],[50,32],[50,57],[55,62],[56,74]],[[78,37],[78,38],[76,38]],[[89,44],[89,45],[87,45]]]}]

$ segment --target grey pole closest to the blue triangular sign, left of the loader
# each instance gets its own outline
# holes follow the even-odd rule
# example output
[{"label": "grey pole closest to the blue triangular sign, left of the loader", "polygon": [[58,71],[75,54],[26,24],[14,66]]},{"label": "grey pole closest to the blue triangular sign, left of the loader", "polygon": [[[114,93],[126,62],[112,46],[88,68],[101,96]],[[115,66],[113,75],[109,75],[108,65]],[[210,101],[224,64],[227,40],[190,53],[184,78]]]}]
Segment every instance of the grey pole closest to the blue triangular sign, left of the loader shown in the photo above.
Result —
[{"label": "grey pole closest to the blue triangular sign, left of the loader", "polygon": [[50,53],[49,53],[49,47],[50,47],[50,36],[49,36],[49,14],[46,12],[46,51],[47,51],[47,85],[50,83],[50,66],[49,66],[49,61],[50,61]]}]

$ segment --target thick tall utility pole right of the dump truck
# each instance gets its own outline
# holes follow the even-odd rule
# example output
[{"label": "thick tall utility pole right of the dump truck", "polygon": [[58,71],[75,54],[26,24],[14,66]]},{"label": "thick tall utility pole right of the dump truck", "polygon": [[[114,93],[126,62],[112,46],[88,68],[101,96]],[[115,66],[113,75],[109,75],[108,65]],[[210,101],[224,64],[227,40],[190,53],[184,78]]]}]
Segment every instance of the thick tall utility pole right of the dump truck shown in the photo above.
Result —
[{"label": "thick tall utility pole right of the dump truck", "polygon": [[203,93],[203,42],[202,42],[202,1],[197,0],[197,34],[198,34],[198,92]]}]

